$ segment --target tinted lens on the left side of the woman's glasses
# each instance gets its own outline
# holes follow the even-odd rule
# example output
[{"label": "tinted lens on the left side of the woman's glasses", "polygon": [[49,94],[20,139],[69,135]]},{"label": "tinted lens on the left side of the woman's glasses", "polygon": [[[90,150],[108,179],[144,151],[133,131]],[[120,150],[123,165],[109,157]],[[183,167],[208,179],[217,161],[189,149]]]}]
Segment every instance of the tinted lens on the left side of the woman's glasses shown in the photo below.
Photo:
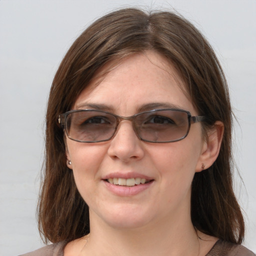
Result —
[{"label": "tinted lens on the left side of the woman's glasses", "polygon": [[116,118],[109,113],[86,110],[70,113],[66,118],[67,135],[74,140],[107,140],[115,131]]}]

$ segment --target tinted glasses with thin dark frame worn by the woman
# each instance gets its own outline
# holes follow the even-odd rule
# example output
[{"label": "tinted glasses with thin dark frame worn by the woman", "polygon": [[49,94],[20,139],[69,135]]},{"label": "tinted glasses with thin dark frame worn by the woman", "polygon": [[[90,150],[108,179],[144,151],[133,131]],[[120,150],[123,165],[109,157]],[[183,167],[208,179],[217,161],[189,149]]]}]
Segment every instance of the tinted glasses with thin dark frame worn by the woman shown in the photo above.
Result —
[{"label": "tinted glasses with thin dark frame worn by the woman", "polygon": [[137,137],[153,143],[174,142],[185,138],[192,123],[204,116],[191,116],[177,108],[153,109],[131,116],[93,109],[78,109],[60,114],[58,122],[68,138],[85,143],[110,140],[123,120],[132,122]]}]

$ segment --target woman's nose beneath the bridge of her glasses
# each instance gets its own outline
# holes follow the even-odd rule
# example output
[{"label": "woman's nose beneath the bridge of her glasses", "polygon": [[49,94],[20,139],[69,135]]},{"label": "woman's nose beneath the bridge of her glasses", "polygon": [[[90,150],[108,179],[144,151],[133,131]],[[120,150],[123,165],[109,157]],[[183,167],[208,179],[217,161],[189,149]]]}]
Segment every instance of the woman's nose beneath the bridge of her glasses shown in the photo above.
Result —
[{"label": "woman's nose beneath the bridge of her glasses", "polygon": [[119,158],[124,162],[140,159],[144,155],[142,143],[133,130],[131,121],[122,120],[114,137],[110,140],[108,154],[110,157]]}]

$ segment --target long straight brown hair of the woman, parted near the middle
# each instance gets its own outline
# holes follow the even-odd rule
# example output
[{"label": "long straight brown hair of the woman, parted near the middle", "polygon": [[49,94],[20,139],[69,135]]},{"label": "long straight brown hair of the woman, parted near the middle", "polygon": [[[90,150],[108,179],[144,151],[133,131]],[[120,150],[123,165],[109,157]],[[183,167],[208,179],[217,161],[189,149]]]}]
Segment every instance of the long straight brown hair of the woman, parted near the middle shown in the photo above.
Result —
[{"label": "long straight brown hair of the woman, parted near the middle", "polygon": [[45,168],[38,202],[38,224],[45,241],[70,241],[89,232],[88,206],[66,167],[63,131],[57,119],[71,109],[95,72],[110,60],[153,49],[165,56],[183,78],[191,101],[207,116],[204,129],[224,124],[219,155],[194,175],[191,220],[198,230],[241,243],[243,217],[232,189],[231,108],[219,62],[201,33],[172,12],[145,13],[126,8],[91,24],[72,44],[55,74],[46,113]]}]

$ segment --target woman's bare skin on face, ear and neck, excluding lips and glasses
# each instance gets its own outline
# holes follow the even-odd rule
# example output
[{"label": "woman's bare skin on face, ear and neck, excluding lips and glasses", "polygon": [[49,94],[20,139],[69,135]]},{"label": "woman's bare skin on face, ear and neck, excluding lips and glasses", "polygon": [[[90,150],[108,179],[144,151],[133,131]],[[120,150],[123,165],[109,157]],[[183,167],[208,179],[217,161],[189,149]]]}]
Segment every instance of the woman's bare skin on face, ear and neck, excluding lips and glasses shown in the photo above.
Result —
[{"label": "woman's bare skin on face, ear and neck, excluding lips and glasses", "polygon": [[[99,84],[93,81],[80,93],[73,109],[104,104],[103,110],[128,116],[159,103],[197,115],[180,86],[184,85],[175,68],[159,54],[146,51],[115,63]],[[180,141],[150,143],[136,136],[130,121],[122,121],[109,141],[81,143],[66,138],[66,155],[72,162],[67,166],[89,206],[91,232],[88,239],[68,243],[64,255],[187,255],[187,251],[205,255],[217,238],[196,233],[192,226],[191,182],[202,163],[207,168],[216,159],[222,130],[216,122],[206,141],[201,124],[195,123]],[[118,175],[152,181],[136,194],[120,195],[105,181]]]}]

